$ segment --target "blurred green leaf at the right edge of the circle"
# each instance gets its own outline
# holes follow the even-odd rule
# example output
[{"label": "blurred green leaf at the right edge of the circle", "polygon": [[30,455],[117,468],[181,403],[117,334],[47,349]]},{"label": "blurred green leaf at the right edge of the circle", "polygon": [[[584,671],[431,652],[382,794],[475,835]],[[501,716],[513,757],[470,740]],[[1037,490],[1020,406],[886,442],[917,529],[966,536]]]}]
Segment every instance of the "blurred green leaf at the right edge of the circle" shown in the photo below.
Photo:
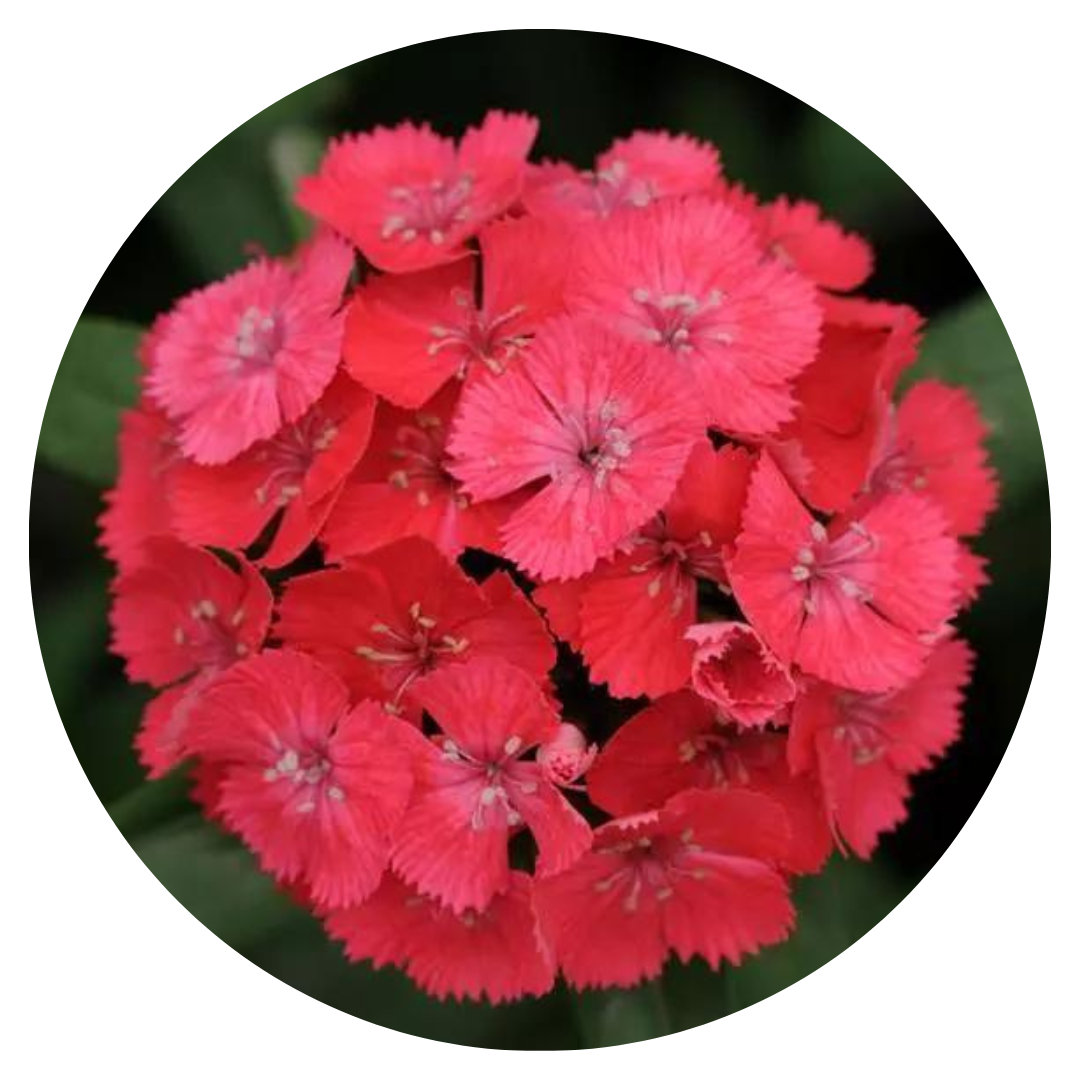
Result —
[{"label": "blurred green leaf at the right edge of the circle", "polygon": [[990,456],[1001,475],[1003,504],[1015,505],[1045,484],[1031,395],[1009,334],[985,293],[931,321],[919,363],[906,381],[931,376],[967,387],[978,401],[990,429]]}]

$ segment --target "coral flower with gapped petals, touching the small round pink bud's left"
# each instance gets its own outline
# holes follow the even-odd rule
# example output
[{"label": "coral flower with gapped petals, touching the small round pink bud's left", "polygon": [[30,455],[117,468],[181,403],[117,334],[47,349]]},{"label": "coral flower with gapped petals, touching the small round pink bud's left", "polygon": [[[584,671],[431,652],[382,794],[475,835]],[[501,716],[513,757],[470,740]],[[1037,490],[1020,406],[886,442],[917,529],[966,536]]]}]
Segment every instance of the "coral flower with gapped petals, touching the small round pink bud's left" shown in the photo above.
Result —
[{"label": "coral flower with gapped petals, touching the small round pink bud's left", "polygon": [[523,756],[558,733],[536,681],[503,660],[444,667],[413,696],[442,731],[417,753],[416,793],[397,829],[394,869],[457,913],[483,910],[511,885],[507,846],[527,828],[541,877],[570,866],[592,831]]}]

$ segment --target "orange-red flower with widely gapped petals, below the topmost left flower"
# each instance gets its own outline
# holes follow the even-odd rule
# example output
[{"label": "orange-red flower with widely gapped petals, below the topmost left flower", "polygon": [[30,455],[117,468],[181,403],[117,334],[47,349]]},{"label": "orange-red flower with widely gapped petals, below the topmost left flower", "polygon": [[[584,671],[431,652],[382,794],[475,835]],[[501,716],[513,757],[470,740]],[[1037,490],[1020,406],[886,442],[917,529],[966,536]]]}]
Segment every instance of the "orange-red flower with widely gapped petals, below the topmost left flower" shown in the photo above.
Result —
[{"label": "orange-red flower with widely gapped petals, below the topmost left flower", "polygon": [[423,405],[453,378],[501,375],[562,310],[565,244],[554,222],[505,219],[480,232],[483,273],[470,258],[370,279],[349,309],[346,365],[402,408]]}]

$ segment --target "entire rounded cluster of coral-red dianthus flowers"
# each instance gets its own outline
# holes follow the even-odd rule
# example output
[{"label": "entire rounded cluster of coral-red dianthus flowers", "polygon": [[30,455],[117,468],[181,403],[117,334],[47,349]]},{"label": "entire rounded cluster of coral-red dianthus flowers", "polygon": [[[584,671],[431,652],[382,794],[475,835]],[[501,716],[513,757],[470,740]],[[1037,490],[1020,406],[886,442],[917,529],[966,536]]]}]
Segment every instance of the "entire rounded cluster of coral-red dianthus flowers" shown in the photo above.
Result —
[{"label": "entire rounded cluster of coral-red dianthus flowers", "polygon": [[687,136],[536,134],[334,141],[312,239],[146,335],[102,521],[150,775],[494,1002],[738,963],[869,856],[958,735],[996,500],[861,238]]}]

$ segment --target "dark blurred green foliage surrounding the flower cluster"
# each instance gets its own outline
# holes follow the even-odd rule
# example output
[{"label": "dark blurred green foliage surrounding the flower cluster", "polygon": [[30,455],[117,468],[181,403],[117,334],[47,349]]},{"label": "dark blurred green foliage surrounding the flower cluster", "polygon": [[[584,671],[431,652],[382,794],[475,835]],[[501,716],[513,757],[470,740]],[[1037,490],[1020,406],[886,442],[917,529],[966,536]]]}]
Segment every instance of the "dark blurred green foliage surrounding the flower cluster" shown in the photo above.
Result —
[{"label": "dark blurred green foliage surrounding the flower cluster", "polygon": [[[977,544],[994,583],[961,619],[978,656],[963,738],[918,779],[910,820],[875,862],[837,858],[800,882],[795,936],[739,969],[670,966],[638,990],[559,989],[499,1009],[440,1005],[397,972],[346,963],[243,849],[202,823],[183,775],[144,782],[131,740],[146,694],[106,652],[108,568],[94,545],[139,329],[242,265],[252,245],[276,254],[303,235],[289,194],[330,134],[405,119],[460,134],[494,107],[539,117],[536,156],[579,165],[635,127],[690,132],[715,141],[727,174],[760,195],[813,199],[861,232],[877,253],[865,292],[928,316],[915,375],[972,389],[1003,485]],[[691,53],[579,31],[473,35],[365,60],[208,150],[149,211],[86,306],[42,426],[30,508],[35,609],[56,704],[95,792],[150,869],[229,945],[307,994],[414,1035],[511,1049],[605,1045],[714,1020],[813,971],[888,914],[944,853],[1001,760],[1035,667],[1049,570],[1047,475],[1027,387],[993,303],[933,213],[858,139],[782,91]]]}]

